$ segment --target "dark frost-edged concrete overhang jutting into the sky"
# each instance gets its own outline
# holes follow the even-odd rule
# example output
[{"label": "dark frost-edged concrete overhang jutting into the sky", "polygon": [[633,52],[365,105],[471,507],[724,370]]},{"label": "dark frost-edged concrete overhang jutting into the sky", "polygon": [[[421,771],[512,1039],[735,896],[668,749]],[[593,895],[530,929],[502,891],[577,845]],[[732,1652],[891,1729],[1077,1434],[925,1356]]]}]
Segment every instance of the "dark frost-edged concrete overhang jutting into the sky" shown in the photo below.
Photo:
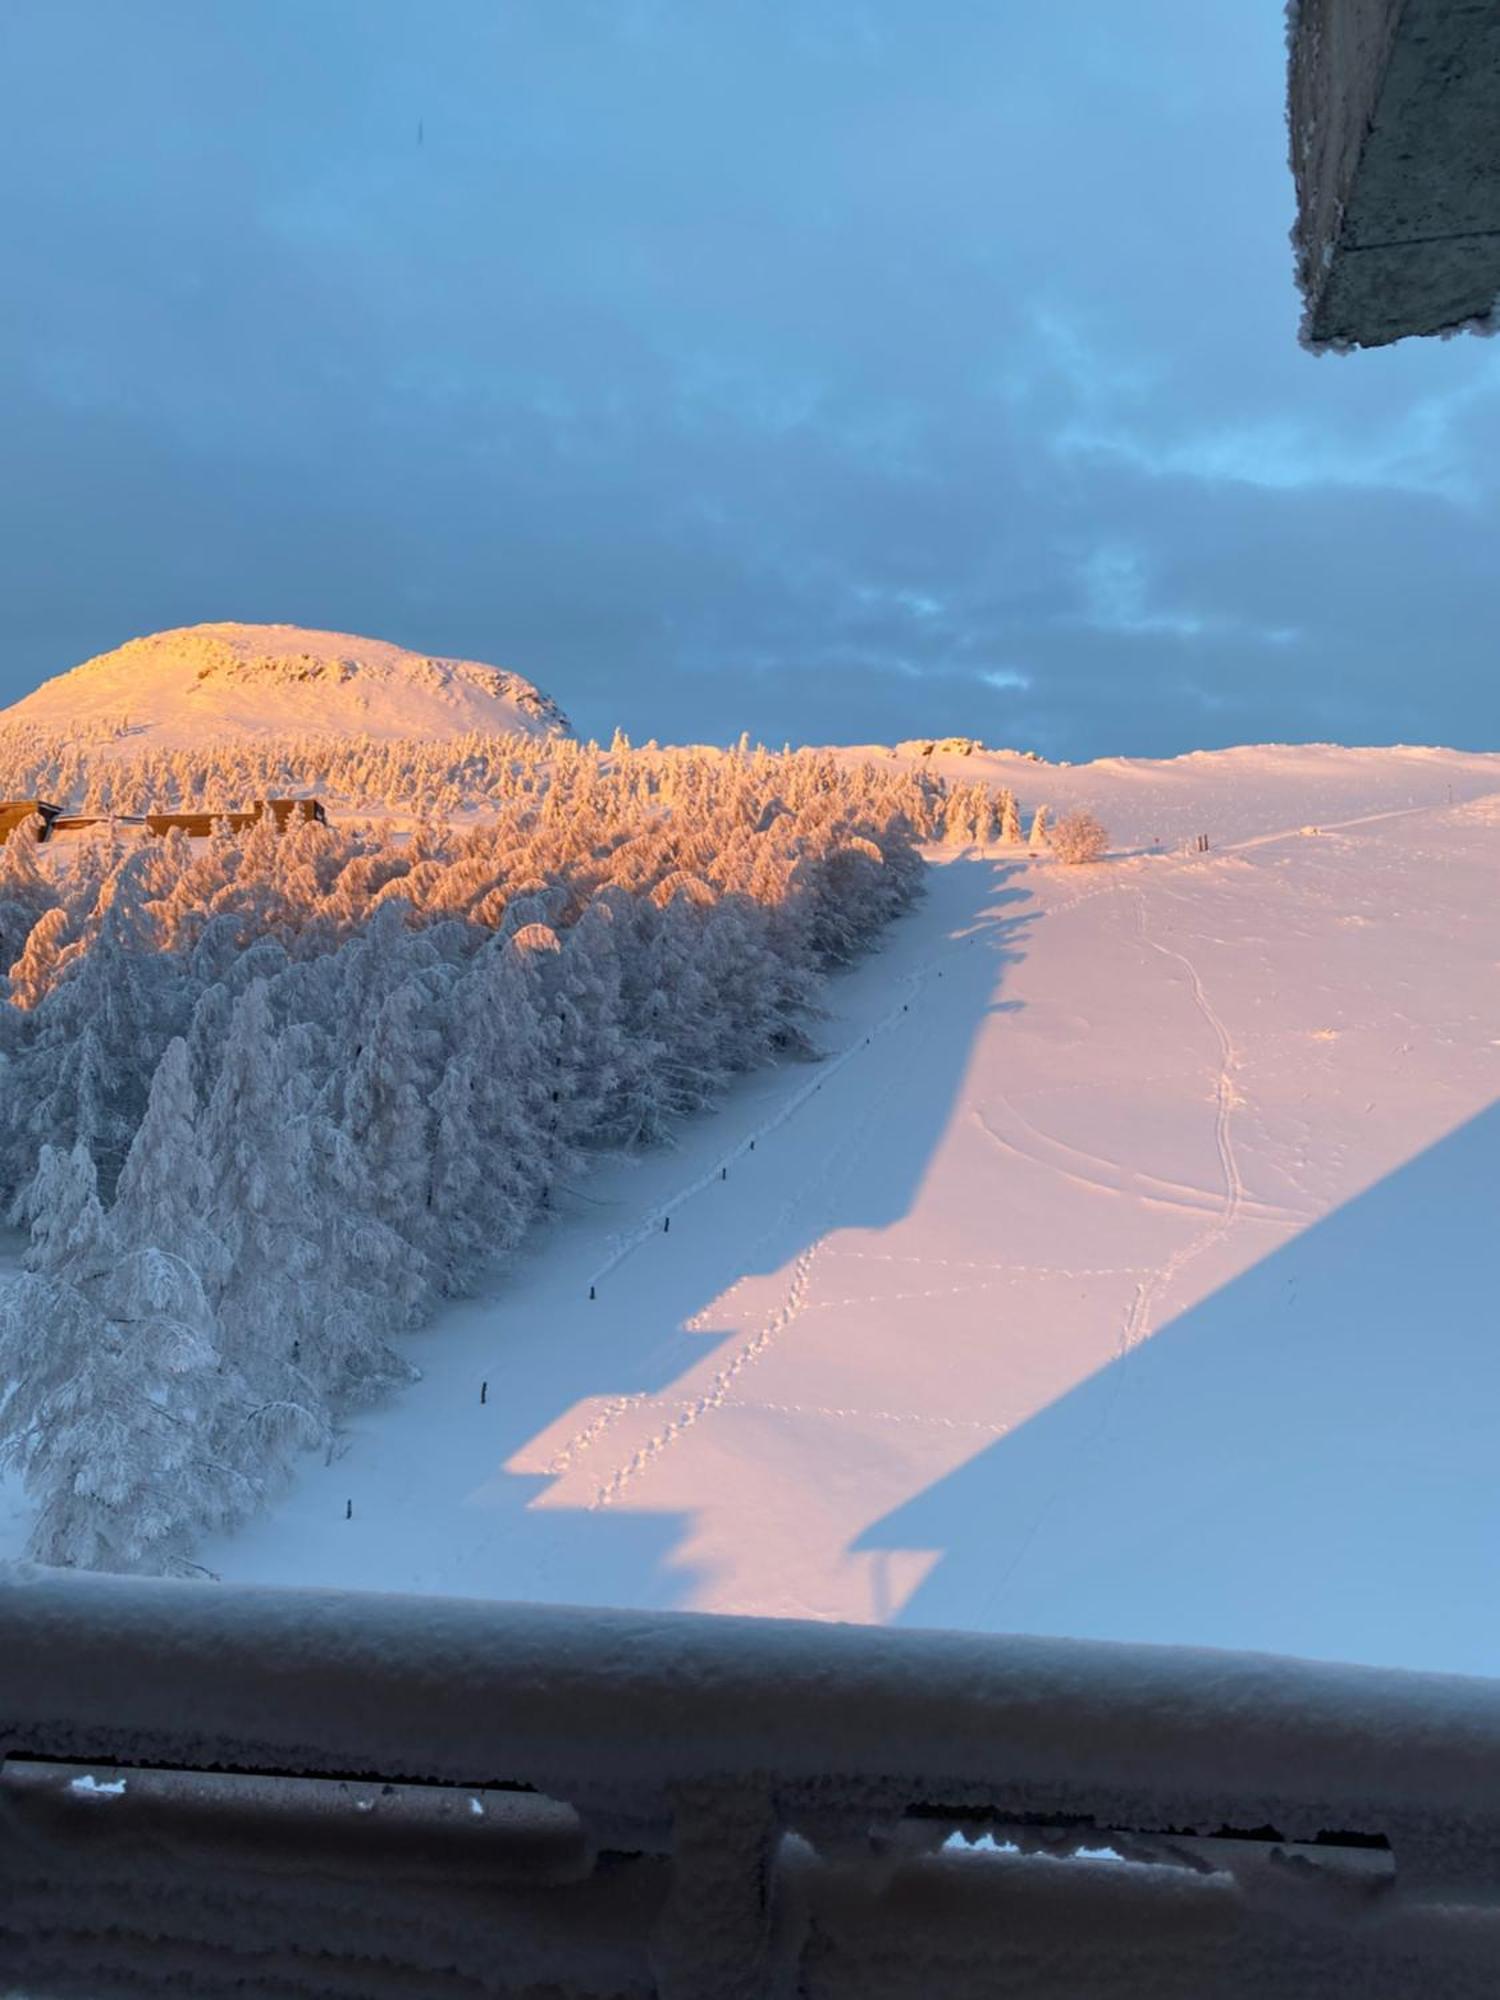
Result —
[{"label": "dark frost-edged concrete overhang jutting into the sky", "polygon": [[1500,0],[1294,0],[1290,126],[1308,346],[1492,316]]}]

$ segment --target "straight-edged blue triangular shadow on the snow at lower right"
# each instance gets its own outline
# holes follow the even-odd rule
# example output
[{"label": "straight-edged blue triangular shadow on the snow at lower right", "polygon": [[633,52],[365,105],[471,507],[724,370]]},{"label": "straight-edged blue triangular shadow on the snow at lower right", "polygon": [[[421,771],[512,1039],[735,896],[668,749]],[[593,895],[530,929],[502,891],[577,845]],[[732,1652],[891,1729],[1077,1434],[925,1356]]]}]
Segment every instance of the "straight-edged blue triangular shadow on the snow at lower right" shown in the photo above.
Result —
[{"label": "straight-edged blue triangular shadow on the snow at lower right", "polygon": [[856,1546],[900,1622],[1500,1674],[1500,1104]]}]

